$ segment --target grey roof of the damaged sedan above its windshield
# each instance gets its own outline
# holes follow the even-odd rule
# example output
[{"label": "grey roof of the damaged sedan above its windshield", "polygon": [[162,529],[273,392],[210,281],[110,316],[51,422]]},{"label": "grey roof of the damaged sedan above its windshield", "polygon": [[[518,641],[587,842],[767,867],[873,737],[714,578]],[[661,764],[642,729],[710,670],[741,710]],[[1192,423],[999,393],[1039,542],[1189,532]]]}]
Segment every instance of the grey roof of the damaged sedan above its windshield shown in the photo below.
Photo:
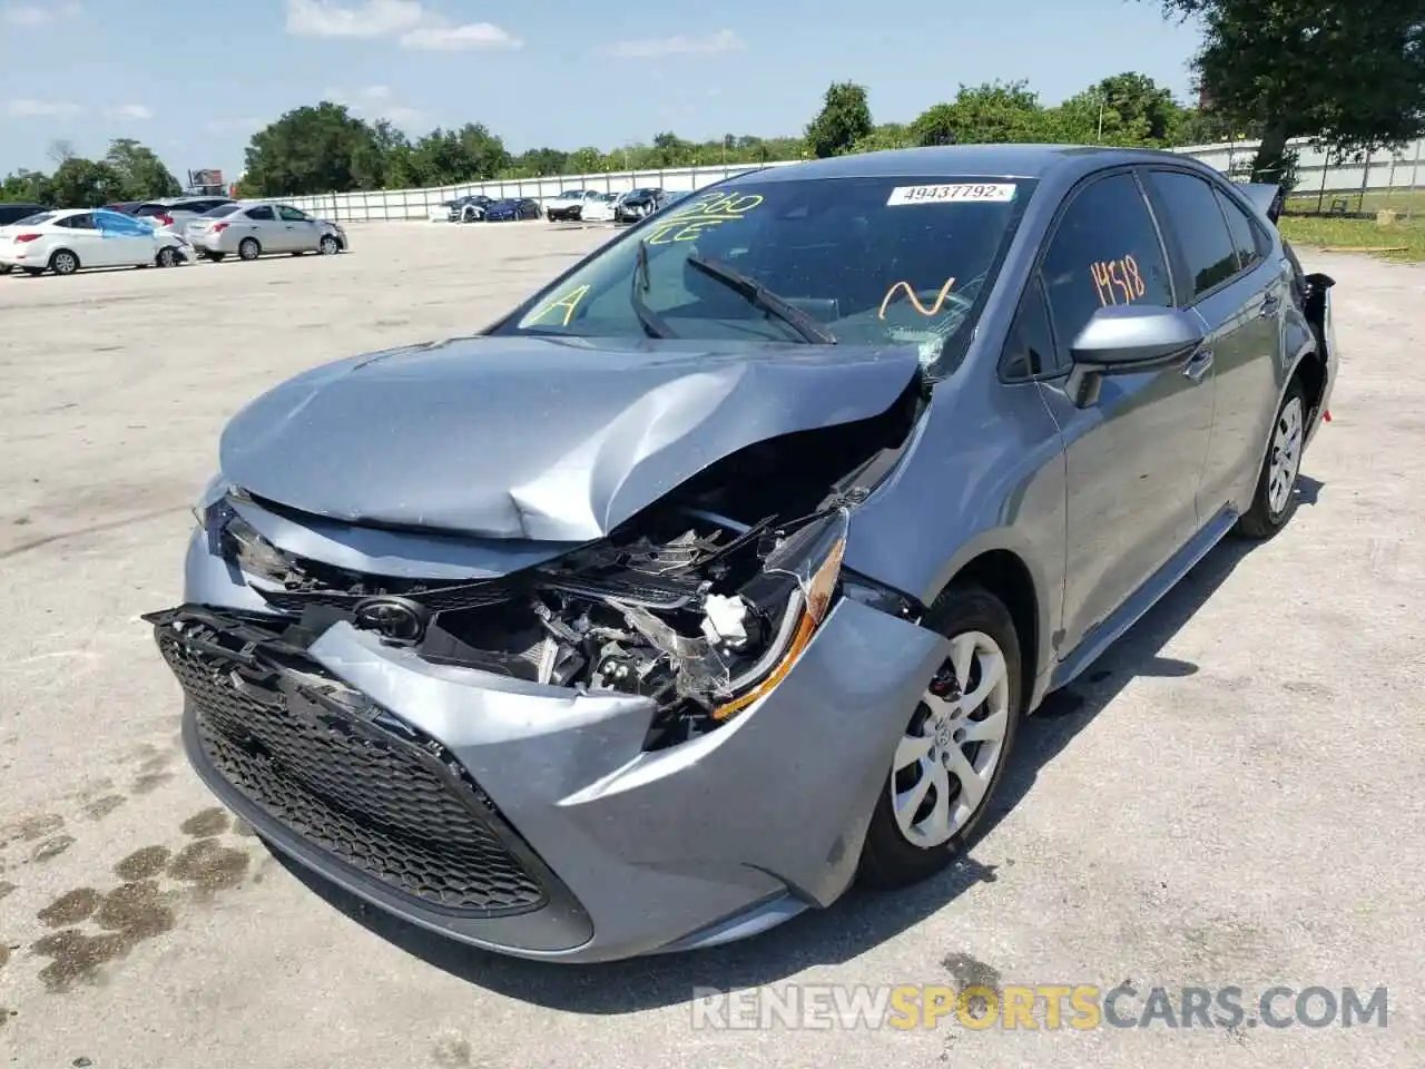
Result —
[{"label": "grey roof of the damaged sedan above its windshield", "polygon": [[[1093,165],[1086,167],[1092,160]],[[768,167],[737,177],[757,175],[757,181],[798,181],[805,178],[876,178],[915,175],[935,177],[1006,177],[1045,178],[1057,170],[1097,170],[1114,164],[1171,160],[1191,162],[1191,157],[1147,148],[1107,148],[1102,145],[936,145],[932,148],[895,148],[885,153],[835,155],[828,160]]]}]

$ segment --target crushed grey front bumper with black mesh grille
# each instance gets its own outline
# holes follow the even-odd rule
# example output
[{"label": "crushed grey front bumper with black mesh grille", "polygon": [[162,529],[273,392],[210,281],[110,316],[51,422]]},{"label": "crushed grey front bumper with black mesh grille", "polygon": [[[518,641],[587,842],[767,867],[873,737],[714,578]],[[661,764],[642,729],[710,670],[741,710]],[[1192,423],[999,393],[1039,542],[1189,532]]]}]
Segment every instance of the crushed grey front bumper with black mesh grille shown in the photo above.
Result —
[{"label": "crushed grey front bumper with black mesh grille", "polygon": [[191,604],[150,617],[200,775],[368,902],[529,958],[712,945],[835,901],[948,656],[846,599],[757,706],[646,753],[650,700],[432,664],[348,623],[294,633],[229,569],[195,534]]}]

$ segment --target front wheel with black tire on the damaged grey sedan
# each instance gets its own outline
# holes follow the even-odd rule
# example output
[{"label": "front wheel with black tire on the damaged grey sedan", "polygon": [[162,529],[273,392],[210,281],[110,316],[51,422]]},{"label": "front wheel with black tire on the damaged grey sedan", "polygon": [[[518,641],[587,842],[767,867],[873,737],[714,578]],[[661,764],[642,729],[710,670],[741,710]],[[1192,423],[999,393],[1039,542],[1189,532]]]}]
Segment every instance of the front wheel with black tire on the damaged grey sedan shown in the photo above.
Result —
[{"label": "front wheel with black tire on the damaged grey sedan", "polygon": [[896,745],[866,831],[858,877],[891,889],[935,875],[989,810],[1023,711],[1019,636],[1003,601],[955,584],[926,613],[950,656]]}]

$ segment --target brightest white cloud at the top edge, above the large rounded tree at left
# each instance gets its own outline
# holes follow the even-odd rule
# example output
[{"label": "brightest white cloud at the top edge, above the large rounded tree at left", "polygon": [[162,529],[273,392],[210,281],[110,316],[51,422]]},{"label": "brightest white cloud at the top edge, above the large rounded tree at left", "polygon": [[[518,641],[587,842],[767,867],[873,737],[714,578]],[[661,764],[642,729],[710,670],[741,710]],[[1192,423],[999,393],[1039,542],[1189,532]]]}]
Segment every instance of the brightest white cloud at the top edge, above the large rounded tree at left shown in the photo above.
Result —
[{"label": "brightest white cloud at the top edge, above the large rounded tree at left", "polygon": [[522,40],[493,23],[455,24],[418,0],[286,0],[286,31],[296,37],[396,38],[422,51],[520,48]]}]

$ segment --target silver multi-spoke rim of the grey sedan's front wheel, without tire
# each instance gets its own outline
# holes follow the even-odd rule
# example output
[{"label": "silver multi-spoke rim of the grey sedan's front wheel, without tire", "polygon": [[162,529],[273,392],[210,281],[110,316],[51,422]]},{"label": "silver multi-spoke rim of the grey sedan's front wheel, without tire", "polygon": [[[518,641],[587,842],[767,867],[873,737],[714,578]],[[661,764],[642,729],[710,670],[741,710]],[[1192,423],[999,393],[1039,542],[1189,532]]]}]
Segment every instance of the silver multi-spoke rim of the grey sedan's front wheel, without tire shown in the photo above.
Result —
[{"label": "silver multi-spoke rim of the grey sedan's front wheel, without tire", "polygon": [[891,808],[911,844],[948,842],[985,801],[1005,753],[1009,694],[999,643],[983,631],[955,636],[895,753]]}]

